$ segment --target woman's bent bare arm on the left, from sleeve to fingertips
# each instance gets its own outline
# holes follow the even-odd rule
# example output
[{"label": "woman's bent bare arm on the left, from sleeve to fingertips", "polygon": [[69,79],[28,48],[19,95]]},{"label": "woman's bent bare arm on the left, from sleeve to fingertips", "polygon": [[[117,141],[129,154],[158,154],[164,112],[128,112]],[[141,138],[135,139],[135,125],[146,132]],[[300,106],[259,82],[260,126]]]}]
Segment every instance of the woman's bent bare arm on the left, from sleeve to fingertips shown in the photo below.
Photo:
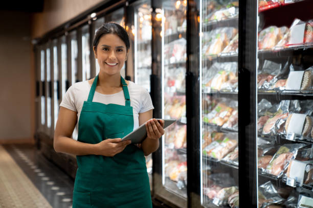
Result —
[{"label": "woman's bent bare arm on the left, from sleeve to fingertips", "polygon": [[120,142],[121,139],[106,139],[98,144],[88,144],[71,138],[77,123],[77,112],[60,107],[59,116],[54,132],[53,146],[55,151],[74,155],[96,154],[113,157],[123,151],[130,141]]}]

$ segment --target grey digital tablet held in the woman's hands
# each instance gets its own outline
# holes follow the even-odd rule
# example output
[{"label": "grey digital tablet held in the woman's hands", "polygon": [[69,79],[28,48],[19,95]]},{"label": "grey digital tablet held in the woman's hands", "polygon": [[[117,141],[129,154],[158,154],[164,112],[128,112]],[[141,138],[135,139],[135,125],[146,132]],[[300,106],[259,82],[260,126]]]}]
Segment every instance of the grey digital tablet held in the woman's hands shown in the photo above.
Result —
[{"label": "grey digital tablet held in the woman's hands", "polygon": [[[157,120],[164,120],[164,126],[163,128],[168,127],[172,123],[176,121],[176,119],[157,119]],[[148,122],[148,121],[147,121]],[[122,138],[122,141],[130,140],[132,144],[138,144],[141,143],[144,139],[147,138],[147,131],[145,124],[140,125],[138,128],[136,128],[134,131],[126,135]]]}]

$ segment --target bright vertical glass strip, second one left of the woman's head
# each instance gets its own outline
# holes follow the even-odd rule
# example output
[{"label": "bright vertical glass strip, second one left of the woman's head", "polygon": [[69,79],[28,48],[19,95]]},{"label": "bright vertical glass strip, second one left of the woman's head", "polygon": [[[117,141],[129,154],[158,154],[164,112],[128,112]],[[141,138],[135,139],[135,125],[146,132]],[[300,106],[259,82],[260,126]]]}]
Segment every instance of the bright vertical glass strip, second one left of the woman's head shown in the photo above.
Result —
[{"label": "bright vertical glass strip, second one left of the woman's head", "polygon": [[90,46],[88,25],[83,28],[82,34],[82,81],[90,80]]}]

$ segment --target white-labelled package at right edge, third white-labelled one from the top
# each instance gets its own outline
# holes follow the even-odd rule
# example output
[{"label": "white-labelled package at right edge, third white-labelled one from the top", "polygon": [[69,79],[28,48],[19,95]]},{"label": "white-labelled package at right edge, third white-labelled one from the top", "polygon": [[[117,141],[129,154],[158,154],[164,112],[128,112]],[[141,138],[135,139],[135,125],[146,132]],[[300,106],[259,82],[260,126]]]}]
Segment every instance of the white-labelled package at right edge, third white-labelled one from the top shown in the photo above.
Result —
[{"label": "white-labelled package at right edge, third white-labelled one from the top", "polygon": [[310,137],[312,127],[313,120],[310,116],[306,114],[289,114],[285,124],[285,131],[286,134]]}]

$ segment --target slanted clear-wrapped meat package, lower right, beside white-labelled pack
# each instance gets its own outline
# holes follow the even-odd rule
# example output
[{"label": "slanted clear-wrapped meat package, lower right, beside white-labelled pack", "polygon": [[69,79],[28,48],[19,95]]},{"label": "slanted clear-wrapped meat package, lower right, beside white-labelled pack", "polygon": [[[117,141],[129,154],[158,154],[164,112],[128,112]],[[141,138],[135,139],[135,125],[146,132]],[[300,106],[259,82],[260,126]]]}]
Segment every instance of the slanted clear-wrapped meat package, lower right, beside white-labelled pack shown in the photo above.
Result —
[{"label": "slanted clear-wrapped meat package, lower right, beside white-labelled pack", "polygon": [[295,159],[298,149],[306,146],[305,144],[284,144],[274,154],[270,164],[267,165],[265,172],[280,177],[285,172],[290,160]]}]

